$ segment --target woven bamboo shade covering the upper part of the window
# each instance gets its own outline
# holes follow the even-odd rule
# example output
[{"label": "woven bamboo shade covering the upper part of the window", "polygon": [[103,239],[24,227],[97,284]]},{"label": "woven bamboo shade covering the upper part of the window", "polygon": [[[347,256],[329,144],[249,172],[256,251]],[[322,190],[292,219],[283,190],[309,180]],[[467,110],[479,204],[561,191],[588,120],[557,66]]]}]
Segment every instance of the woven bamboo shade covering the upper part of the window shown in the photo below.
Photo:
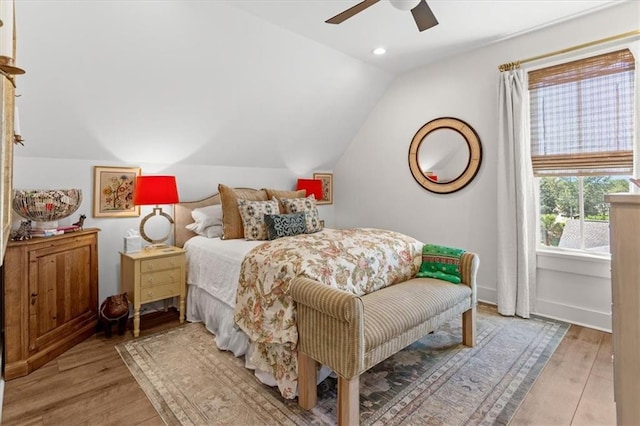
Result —
[{"label": "woven bamboo shade covering the upper part of the window", "polygon": [[631,174],[634,82],[628,49],[529,72],[534,173]]}]

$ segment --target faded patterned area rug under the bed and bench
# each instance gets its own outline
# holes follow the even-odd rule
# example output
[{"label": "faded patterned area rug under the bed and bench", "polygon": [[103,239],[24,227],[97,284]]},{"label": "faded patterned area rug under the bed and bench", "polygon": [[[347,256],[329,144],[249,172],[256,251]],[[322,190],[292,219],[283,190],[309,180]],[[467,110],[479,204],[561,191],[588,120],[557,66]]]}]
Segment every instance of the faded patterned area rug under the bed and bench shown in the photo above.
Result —
[{"label": "faded patterned area rug under the bed and bench", "polygon": [[[478,342],[451,321],[360,378],[360,424],[507,424],[569,325],[478,308]],[[336,383],[310,412],[258,382],[244,358],[219,351],[202,324],[185,324],[116,349],[169,425],[336,423]]]}]

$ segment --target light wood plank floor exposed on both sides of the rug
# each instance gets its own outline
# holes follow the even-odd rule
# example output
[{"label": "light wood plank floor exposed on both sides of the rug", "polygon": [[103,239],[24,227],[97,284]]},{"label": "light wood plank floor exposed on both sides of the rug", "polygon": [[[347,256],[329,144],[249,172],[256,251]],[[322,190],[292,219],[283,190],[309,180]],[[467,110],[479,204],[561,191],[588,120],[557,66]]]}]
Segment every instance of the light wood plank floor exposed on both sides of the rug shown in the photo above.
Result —
[{"label": "light wood plank floor exposed on both sides of the rug", "polygon": [[[140,334],[176,325],[175,312],[149,314]],[[97,334],[8,381],[2,424],[163,425],[114,349],[132,338]],[[511,424],[615,425],[611,353],[610,334],[572,326]]]}]

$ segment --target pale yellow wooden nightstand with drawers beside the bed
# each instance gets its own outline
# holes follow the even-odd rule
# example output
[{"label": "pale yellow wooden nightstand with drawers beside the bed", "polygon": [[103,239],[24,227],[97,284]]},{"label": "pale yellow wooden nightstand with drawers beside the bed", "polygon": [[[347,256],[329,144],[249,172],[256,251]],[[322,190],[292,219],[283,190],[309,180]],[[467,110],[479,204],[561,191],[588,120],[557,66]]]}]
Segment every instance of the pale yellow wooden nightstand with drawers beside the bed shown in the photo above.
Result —
[{"label": "pale yellow wooden nightstand with drawers beside the bed", "polygon": [[120,253],[120,291],[133,303],[133,335],[140,335],[140,305],[180,296],[180,322],[184,322],[186,285],[184,250],[165,246]]}]

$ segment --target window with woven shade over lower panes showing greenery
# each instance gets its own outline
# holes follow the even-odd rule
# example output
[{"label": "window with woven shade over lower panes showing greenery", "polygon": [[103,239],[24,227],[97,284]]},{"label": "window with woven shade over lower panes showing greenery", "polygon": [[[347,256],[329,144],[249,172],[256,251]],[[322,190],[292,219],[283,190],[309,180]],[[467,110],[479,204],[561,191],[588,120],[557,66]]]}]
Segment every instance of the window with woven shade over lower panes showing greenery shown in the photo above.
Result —
[{"label": "window with woven shade over lower panes showing greenery", "polygon": [[542,246],[609,253],[604,195],[629,190],[635,78],[628,49],[529,72]]}]

